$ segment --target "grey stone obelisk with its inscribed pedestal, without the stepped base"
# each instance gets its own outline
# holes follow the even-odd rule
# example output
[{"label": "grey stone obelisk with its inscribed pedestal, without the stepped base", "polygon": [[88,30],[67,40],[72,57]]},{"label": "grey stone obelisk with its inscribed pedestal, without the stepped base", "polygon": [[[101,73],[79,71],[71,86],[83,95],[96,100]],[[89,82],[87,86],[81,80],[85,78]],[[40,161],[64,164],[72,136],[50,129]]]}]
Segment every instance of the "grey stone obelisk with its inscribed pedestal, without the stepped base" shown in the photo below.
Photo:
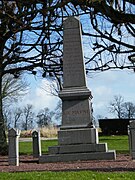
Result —
[{"label": "grey stone obelisk with its inscribed pedestal, without the stepped base", "polygon": [[77,18],[64,22],[63,42],[63,90],[61,129],[90,127],[91,92],[86,87],[86,75],[82,50],[81,25]]}]

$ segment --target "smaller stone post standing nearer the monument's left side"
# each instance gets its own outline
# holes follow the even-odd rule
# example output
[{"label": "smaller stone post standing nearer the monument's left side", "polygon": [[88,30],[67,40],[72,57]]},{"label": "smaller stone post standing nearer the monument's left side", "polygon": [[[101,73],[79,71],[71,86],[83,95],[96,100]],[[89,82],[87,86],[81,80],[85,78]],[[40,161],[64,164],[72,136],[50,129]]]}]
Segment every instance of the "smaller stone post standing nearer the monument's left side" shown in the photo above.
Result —
[{"label": "smaller stone post standing nearer the monument's left side", "polygon": [[41,140],[40,140],[40,131],[34,130],[32,132],[33,139],[33,157],[38,158],[41,156]]}]

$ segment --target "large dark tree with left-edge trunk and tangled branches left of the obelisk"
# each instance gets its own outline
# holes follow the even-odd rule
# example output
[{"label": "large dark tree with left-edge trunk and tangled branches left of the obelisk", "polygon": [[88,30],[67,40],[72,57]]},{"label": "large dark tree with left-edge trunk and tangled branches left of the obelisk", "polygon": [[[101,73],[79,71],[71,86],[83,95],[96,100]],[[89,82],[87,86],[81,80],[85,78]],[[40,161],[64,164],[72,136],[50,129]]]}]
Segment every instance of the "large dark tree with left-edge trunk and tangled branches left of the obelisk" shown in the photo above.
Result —
[{"label": "large dark tree with left-edge trunk and tangled branches left of the obelisk", "polygon": [[[62,40],[59,39],[62,24],[57,21],[59,7],[56,5],[53,1],[42,0],[0,1],[1,154],[7,152],[2,109],[3,76],[13,74],[18,78],[24,70],[36,75],[39,68],[43,68],[42,74],[45,77],[47,73],[51,76],[61,70],[58,58],[62,54],[59,48],[62,44]],[[52,39],[52,37],[55,38]]]}]

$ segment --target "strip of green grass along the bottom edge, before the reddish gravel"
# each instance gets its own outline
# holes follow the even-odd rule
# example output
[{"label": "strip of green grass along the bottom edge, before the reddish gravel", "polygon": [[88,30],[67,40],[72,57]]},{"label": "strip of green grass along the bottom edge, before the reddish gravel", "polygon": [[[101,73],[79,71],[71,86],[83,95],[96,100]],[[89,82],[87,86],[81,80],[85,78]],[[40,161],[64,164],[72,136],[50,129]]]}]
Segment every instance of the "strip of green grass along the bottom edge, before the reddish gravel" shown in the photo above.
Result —
[{"label": "strip of green grass along the bottom edge, before the reddish gravel", "polygon": [[135,179],[135,172],[24,172],[0,173],[1,180],[129,180]]}]

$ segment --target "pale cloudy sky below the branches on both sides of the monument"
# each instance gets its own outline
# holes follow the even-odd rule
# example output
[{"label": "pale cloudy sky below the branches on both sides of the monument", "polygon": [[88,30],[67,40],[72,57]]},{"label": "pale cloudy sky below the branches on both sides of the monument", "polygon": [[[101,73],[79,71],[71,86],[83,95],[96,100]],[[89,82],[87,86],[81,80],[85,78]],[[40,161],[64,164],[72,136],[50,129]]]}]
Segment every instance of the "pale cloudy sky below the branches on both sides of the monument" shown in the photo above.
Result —
[{"label": "pale cloudy sky below the branches on both sides of the monument", "polygon": [[[33,104],[36,112],[45,107],[54,110],[59,98],[45,91],[48,88],[47,80],[35,80],[30,77],[29,82],[31,82],[30,91],[20,102],[21,105]],[[87,77],[87,87],[93,95],[92,104],[95,118],[99,115],[102,118],[114,117],[109,113],[108,107],[115,95],[123,96],[125,102],[135,103],[135,73],[131,70],[109,70],[90,74]]]}]

